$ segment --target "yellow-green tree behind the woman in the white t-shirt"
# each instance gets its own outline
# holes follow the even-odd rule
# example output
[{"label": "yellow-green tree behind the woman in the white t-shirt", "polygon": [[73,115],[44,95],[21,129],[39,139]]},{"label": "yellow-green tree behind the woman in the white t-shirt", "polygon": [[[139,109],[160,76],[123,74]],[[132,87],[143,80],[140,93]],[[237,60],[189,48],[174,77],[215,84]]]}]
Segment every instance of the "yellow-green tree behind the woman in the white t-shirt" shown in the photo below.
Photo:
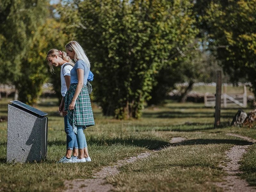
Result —
[{"label": "yellow-green tree behind the woman in the white t-shirt", "polygon": [[55,68],[55,74],[51,74],[46,62],[46,55],[52,48],[64,50],[67,39],[62,30],[63,26],[63,23],[51,18],[47,19],[44,25],[35,32],[27,55],[21,61],[22,75],[17,82],[20,100],[31,105],[35,104],[42,93],[42,85],[48,81],[49,77],[52,79],[53,88],[61,100],[60,68]]}]

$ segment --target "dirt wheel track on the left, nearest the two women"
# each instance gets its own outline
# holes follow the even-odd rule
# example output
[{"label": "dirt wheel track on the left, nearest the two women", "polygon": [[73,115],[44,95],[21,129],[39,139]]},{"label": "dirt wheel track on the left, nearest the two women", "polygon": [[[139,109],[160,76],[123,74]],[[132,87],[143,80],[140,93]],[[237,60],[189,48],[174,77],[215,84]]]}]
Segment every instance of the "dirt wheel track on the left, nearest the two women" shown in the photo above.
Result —
[{"label": "dirt wheel track on the left, nearest the two women", "polygon": [[[186,140],[182,137],[174,137],[170,141],[171,145],[177,145],[178,143]],[[118,168],[127,163],[132,163],[137,159],[145,158],[150,156],[152,153],[161,150],[162,148],[158,148],[152,150],[150,152],[140,153],[138,156],[133,156],[124,160],[119,160],[113,166],[103,167],[99,172],[94,174],[95,179],[76,179],[76,180],[68,180],[65,182],[66,192],[92,192],[92,191],[101,191],[107,192],[113,189],[111,184],[106,183],[105,178],[111,175],[115,175],[119,173]]]}]

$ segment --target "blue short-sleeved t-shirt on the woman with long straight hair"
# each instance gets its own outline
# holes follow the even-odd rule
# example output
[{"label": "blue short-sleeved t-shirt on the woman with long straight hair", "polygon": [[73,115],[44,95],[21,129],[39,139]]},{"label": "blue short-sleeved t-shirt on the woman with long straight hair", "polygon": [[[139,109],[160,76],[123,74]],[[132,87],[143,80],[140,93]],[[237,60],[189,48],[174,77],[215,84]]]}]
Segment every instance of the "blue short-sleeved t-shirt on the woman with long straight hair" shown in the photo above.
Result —
[{"label": "blue short-sleeved t-shirt on the woman with long straight hair", "polygon": [[77,69],[84,70],[84,84],[87,83],[90,69],[86,67],[83,60],[77,60],[75,66],[70,71],[70,84],[78,84]]}]

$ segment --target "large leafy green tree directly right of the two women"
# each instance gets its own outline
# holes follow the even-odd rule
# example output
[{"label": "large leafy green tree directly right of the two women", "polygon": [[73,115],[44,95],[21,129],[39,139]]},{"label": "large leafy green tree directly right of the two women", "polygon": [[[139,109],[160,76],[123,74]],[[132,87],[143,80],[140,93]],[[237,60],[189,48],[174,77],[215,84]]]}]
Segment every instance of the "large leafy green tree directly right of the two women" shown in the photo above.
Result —
[{"label": "large leafy green tree directly right of the two women", "polygon": [[[81,1],[71,24],[92,61],[104,115],[138,118],[155,75],[195,36],[186,1]],[[76,7],[74,6],[74,7]],[[67,22],[69,13],[60,12]]]}]

